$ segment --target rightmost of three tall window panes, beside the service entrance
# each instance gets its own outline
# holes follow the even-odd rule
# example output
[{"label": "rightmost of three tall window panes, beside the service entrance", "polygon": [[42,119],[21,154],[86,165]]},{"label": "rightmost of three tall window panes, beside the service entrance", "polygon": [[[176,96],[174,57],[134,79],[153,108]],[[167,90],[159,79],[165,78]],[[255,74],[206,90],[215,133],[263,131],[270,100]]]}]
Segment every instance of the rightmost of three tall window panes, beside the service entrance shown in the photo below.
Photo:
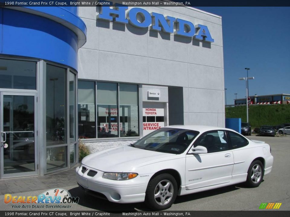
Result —
[{"label": "rightmost of three tall window panes, beside the service entrance", "polygon": [[138,85],[121,83],[119,88],[121,128],[120,136],[139,136]]}]

